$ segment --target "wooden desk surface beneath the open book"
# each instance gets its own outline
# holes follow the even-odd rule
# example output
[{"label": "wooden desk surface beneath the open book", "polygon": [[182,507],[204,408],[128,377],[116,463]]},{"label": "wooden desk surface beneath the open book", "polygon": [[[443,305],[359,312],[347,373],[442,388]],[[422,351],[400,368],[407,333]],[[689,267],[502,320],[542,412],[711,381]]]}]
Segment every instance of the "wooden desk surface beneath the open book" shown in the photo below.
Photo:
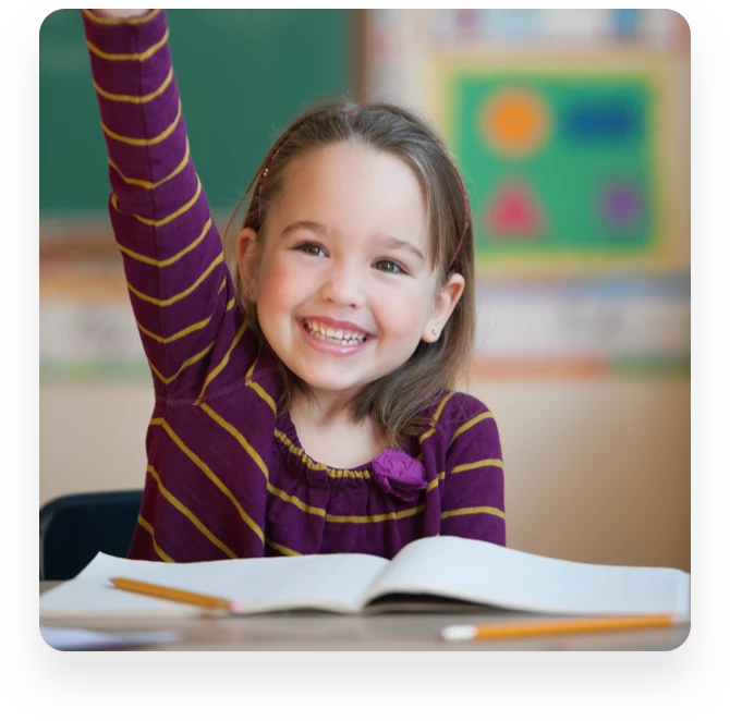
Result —
[{"label": "wooden desk surface beneath the open book", "polygon": [[[58,582],[39,584],[42,594]],[[83,623],[83,627],[94,631],[177,631],[182,635],[182,639],[174,644],[132,649],[149,651],[672,651],[690,635],[688,624],[673,628],[499,641],[457,644],[438,638],[443,626],[478,623],[479,618],[474,613],[380,616],[292,613],[168,622],[97,619]],[[78,627],[80,623],[63,625]]]}]

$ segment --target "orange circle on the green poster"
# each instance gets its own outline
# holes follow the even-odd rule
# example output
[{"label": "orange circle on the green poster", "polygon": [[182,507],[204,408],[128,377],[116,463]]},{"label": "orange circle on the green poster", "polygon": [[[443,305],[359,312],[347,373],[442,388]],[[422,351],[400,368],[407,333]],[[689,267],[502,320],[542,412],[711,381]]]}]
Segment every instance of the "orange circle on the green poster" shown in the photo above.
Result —
[{"label": "orange circle on the green poster", "polygon": [[482,109],[482,131],[499,154],[525,156],[546,140],[550,113],[543,99],[523,89],[500,90]]}]

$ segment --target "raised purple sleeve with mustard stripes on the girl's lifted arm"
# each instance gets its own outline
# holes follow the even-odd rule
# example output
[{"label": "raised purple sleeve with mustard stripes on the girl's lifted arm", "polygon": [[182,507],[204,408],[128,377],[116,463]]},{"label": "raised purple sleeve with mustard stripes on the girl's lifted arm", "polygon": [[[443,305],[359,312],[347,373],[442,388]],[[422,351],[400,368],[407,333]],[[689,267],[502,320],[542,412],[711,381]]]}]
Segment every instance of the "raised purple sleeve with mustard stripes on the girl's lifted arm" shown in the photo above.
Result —
[{"label": "raised purple sleeve with mustard stripes on the girl's lifted arm", "polygon": [[229,367],[246,329],[191,158],[165,11],[82,16],[109,156],[109,216],[156,395],[194,399],[232,370],[245,375],[255,350]]}]

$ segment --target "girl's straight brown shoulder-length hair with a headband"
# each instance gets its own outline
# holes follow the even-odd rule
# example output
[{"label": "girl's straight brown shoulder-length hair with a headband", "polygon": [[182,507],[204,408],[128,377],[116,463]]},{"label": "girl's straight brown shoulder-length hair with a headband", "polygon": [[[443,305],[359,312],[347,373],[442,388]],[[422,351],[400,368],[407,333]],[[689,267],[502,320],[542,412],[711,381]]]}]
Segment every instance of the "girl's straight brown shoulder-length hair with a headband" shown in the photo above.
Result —
[{"label": "girl's straight brown shoulder-length hair with a headband", "polygon": [[[389,444],[398,447],[403,436],[418,435],[429,427],[429,418],[421,414],[441,391],[451,389],[459,372],[464,370],[472,353],[476,322],[469,199],[453,160],[428,123],[409,110],[385,102],[357,105],[345,100],[321,105],[300,115],[279,136],[233,211],[224,233],[226,261],[250,327],[271,351],[258,325],[256,306],[246,300],[239,276],[235,218],[253,187],[242,228],[251,228],[263,240],[267,210],[278,197],[289,163],[303,152],[341,142],[389,152],[407,163],[425,194],[431,235],[431,269],[440,269],[440,283],[451,272],[461,273],[465,280],[462,296],[439,339],[434,343],[419,341],[403,365],[370,382],[352,402],[353,419],[362,420],[372,414],[382,427]],[[277,357],[272,351],[271,355]],[[280,405],[288,408],[295,391],[312,398],[305,383],[283,363],[279,361],[279,364],[283,377]]]}]

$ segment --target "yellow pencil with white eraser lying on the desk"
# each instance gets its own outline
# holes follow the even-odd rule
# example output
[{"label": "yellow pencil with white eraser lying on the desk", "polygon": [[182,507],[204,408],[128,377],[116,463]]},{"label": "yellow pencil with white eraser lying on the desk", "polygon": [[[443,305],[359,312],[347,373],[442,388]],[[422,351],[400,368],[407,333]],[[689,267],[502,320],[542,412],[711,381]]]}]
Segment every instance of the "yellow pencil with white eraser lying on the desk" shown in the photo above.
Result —
[{"label": "yellow pencil with white eraser lying on the desk", "polygon": [[588,619],[549,619],[545,621],[516,621],[469,626],[448,626],[441,632],[445,640],[478,640],[548,634],[594,633],[599,631],[628,631],[631,628],[662,628],[676,623],[669,614],[638,616],[606,616]]}]

